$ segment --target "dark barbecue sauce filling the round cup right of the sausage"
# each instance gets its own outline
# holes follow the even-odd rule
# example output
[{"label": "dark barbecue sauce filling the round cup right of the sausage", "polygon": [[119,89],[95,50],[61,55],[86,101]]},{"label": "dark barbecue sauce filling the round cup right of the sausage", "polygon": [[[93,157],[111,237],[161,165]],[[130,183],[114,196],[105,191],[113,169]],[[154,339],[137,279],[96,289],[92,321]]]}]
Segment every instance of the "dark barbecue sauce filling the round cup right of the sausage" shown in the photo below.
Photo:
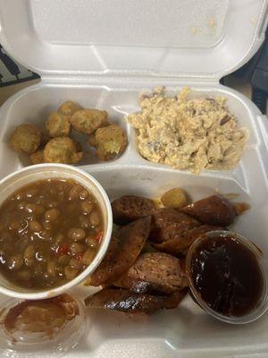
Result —
[{"label": "dark barbecue sauce filling the round cup right of the sausage", "polygon": [[235,237],[207,237],[191,260],[194,286],[214,311],[241,317],[257,306],[264,276],[255,254]]}]

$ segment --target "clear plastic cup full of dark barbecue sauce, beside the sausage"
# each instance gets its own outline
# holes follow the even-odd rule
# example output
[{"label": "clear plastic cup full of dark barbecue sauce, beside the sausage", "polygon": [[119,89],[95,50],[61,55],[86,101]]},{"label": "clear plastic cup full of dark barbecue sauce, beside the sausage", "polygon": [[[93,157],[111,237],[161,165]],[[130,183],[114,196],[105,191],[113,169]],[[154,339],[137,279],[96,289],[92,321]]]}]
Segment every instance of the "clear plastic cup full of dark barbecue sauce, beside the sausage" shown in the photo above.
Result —
[{"label": "clear plastic cup full of dark barbecue sauce, beside the sausage", "polygon": [[239,234],[200,236],[188,251],[186,273],[194,300],[218,320],[249,323],[267,309],[263,253]]}]

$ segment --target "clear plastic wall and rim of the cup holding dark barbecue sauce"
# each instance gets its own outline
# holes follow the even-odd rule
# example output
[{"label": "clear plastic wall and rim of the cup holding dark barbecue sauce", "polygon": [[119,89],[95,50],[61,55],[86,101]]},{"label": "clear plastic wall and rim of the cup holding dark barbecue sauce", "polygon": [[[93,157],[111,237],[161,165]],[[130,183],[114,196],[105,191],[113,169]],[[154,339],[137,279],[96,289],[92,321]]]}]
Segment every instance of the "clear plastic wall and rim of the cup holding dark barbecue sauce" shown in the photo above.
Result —
[{"label": "clear plastic wall and rim of the cup holding dark barbecue sauce", "polygon": [[[235,238],[235,240],[237,240],[239,243],[245,245],[247,249],[249,249],[255,255],[255,259],[257,260],[259,268],[261,269],[261,272],[263,274],[263,278],[264,278],[263,293],[261,294],[257,304],[255,305],[255,308],[243,316],[227,316],[217,311],[214,311],[207,303],[205,303],[205,301],[201,297],[201,294],[199,293],[193,282],[193,277],[191,273],[191,264],[192,264],[192,257],[194,252],[197,251],[199,244],[202,243],[204,239],[215,238],[219,236]],[[255,243],[251,243],[249,240],[247,240],[247,238],[239,234],[222,230],[222,231],[212,231],[210,233],[204,234],[199,238],[197,238],[197,240],[190,246],[188,250],[188,255],[186,259],[186,275],[188,277],[190,294],[194,299],[194,301],[196,301],[196,303],[205,312],[207,312],[217,320],[222,320],[223,322],[232,323],[232,324],[245,324],[259,319],[260,317],[263,316],[265,311],[267,311],[268,308],[267,275],[266,275],[266,269],[264,267],[263,252],[255,245]]]}]

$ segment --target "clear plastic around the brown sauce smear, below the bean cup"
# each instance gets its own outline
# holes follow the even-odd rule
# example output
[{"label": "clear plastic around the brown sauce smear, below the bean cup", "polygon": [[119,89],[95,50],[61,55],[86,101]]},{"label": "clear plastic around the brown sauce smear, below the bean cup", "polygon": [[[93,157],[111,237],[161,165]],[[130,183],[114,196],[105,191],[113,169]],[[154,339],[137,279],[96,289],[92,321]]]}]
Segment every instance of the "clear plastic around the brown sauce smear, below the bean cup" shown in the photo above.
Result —
[{"label": "clear plastic around the brown sauce smear, below the bean cup", "polygon": [[[27,331],[27,329],[19,328],[13,333],[9,332],[4,327],[4,319],[10,309],[24,300],[2,296],[0,299],[2,309],[0,313],[2,322],[0,328],[1,357],[59,358],[74,349],[88,334],[89,324],[84,303],[70,294],[69,297],[76,304],[77,314],[72,320],[66,320],[62,327],[54,328],[52,334],[47,335],[46,331]],[[29,303],[35,303],[35,301],[29,301]],[[38,323],[43,323],[41,315],[36,320],[39,320]]]}]

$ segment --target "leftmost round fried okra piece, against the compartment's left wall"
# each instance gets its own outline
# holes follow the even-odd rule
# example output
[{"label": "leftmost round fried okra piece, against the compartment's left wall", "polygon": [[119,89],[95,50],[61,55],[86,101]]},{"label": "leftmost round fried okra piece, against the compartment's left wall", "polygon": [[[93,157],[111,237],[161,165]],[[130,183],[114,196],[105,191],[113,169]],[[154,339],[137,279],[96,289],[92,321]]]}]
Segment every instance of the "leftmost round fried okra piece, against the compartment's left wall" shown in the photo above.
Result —
[{"label": "leftmost round fried okra piece, against the compartment's left wall", "polygon": [[12,133],[9,142],[15,151],[34,153],[41,142],[41,131],[35,125],[20,124]]}]

